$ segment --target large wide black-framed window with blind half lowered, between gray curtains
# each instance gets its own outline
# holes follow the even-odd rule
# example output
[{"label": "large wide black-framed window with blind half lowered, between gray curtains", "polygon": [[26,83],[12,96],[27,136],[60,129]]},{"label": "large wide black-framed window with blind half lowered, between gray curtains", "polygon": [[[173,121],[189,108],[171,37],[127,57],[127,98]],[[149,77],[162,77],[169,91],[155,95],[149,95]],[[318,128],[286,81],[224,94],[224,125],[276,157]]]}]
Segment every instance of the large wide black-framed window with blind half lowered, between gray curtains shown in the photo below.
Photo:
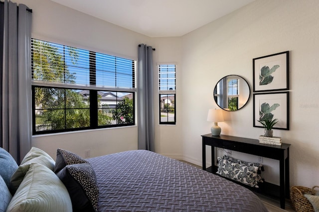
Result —
[{"label": "large wide black-framed window with blind half lowered, between gray curtains", "polygon": [[135,124],[136,62],[31,39],[32,133]]}]

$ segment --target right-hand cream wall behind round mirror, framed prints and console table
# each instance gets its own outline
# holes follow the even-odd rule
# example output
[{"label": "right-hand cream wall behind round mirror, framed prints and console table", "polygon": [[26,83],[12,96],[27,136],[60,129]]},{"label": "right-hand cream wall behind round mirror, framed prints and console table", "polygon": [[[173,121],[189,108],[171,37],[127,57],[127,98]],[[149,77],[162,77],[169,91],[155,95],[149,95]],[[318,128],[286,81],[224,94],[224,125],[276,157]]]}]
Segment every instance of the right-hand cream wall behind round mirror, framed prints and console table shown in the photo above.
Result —
[{"label": "right-hand cream wall behind round mirror, framed prints and console table", "polygon": [[[228,74],[253,85],[252,59],[290,51],[290,131],[274,130],[291,143],[291,185],[319,184],[319,1],[256,0],[182,37],[182,141],[185,159],[201,164],[201,137],[209,133],[209,108],[217,108],[213,88]],[[199,95],[201,94],[201,95]],[[186,97],[187,96],[187,97]],[[201,104],[189,101],[197,99]],[[189,116],[192,111],[195,116]],[[257,139],[253,98],[237,112],[226,112],[222,134]],[[189,130],[191,129],[191,130]],[[257,162],[256,156],[233,156]],[[264,158],[269,182],[278,184],[277,161]]]}]

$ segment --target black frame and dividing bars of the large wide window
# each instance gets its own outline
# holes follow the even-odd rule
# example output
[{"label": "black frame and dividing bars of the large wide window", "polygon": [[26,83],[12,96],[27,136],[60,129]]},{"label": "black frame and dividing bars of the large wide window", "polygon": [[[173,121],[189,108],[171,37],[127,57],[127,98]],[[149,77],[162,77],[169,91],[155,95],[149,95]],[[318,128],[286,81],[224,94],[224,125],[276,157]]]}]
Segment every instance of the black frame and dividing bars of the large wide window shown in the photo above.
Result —
[{"label": "black frame and dividing bars of the large wide window", "polygon": [[[34,39],[34,38],[32,38]],[[38,40],[38,39],[35,39]],[[43,41],[43,40],[39,40],[39,41]],[[43,41],[43,42],[47,42],[49,44],[55,44],[55,45],[62,45],[62,44],[56,44],[50,41]],[[67,45],[62,45],[64,47],[68,47]],[[70,47],[73,48],[73,47]],[[82,51],[83,49],[79,49],[79,51]],[[32,50],[31,50],[32,51]],[[89,50],[84,50],[84,51],[89,51]],[[102,53],[96,53],[96,52],[92,52],[89,51],[90,54],[92,55],[104,55]],[[111,56],[111,55],[106,55],[106,56]],[[114,57],[115,60],[119,57],[117,56],[111,56]],[[135,95],[136,95],[136,65],[137,62],[131,59],[125,59],[125,58],[119,58],[120,60],[124,59],[124,60],[128,60],[128,61],[132,61],[132,78],[130,77],[130,82],[132,82],[132,88],[125,88],[125,87],[103,87],[103,86],[96,86],[96,71],[98,71],[96,69],[96,64],[98,63],[97,58],[94,57],[92,58],[91,55],[89,57],[89,72],[90,72],[90,85],[86,85],[86,86],[82,86],[82,85],[77,85],[77,84],[72,84],[72,83],[55,83],[53,82],[47,82],[47,81],[39,81],[36,79],[33,79],[33,52],[31,52],[31,72],[32,72],[32,78],[31,78],[31,90],[32,90],[32,135],[41,135],[41,134],[53,134],[53,133],[61,133],[61,132],[72,132],[72,131],[81,131],[81,130],[94,130],[94,129],[103,129],[103,128],[114,128],[114,127],[125,127],[125,126],[134,126],[136,125],[136,102],[135,102]],[[66,65],[66,61],[63,61],[63,64],[65,67],[67,67]],[[115,80],[117,80],[115,78]],[[117,81],[114,82],[115,84],[117,83]],[[36,102],[35,102],[35,88],[56,88],[56,89],[72,89],[72,90],[87,90],[89,91],[89,110],[90,110],[90,125],[89,127],[79,127],[79,128],[69,128],[69,129],[65,129],[66,125],[64,125],[64,129],[59,129],[59,130],[44,130],[44,131],[36,131]],[[98,105],[98,92],[102,91],[102,92],[112,92],[112,93],[116,93],[116,108],[115,110],[118,110],[118,103],[120,101],[118,101],[119,97],[117,94],[119,93],[127,93],[132,94],[132,98],[130,97],[130,100],[133,100],[133,105],[132,105],[132,117],[133,117],[133,121],[132,123],[123,123],[120,124],[118,122],[118,117],[115,118],[115,120],[113,120],[113,122],[115,121],[116,124],[108,124],[108,125],[102,125],[99,126],[98,124],[98,110],[101,109],[99,108],[100,106]],[[64,99],[64,101],[66,101],[66,98]],[[95,106],[94,106],[95,105]],[[64,110],[66,111],[67,108],[64,108]],[[66,117],[64,117],[65,120],[67,120]],[[130,118],[131,120],[131,118]],[[65,121],[66,123],[66,121]]]}]

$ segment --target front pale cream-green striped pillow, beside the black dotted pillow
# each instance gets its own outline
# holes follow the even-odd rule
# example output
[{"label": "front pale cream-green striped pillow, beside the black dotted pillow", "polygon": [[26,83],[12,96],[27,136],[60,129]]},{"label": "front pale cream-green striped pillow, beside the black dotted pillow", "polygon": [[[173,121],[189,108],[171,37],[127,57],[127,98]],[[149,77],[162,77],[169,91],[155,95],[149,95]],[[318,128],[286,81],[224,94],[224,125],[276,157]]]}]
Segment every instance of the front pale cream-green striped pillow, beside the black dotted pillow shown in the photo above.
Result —
[{"label": "front pale cream-green striped pillow, beside the black dotted pillow", "polygon": [[8,212],[72,212],[67,189],[49,168],[32,163],[7,208]]}]

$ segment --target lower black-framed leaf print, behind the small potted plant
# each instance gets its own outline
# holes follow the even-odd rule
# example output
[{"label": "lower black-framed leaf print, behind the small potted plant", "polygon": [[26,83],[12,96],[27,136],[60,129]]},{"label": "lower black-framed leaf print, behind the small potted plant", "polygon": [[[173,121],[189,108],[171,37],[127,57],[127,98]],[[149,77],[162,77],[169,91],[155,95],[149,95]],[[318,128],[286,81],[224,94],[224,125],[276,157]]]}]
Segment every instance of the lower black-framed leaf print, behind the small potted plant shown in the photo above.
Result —
[{"label": "lower black-framed leaf print, behind the small potted plant", "polygon": [[[265,115],[265,113],[261,110],[262,105],[264,104],[267,108],[273,107],[273,110],[270,109],[264,112],[272,113],[273,119],[278,119],[278,123],[273,127],[273,129],[289,130],[289,91],[254,93],[253,101],[254,127],[264,128],[257,121],[260,120],[261,116]],[[268,106],[266,104],[268,104]]]}]

